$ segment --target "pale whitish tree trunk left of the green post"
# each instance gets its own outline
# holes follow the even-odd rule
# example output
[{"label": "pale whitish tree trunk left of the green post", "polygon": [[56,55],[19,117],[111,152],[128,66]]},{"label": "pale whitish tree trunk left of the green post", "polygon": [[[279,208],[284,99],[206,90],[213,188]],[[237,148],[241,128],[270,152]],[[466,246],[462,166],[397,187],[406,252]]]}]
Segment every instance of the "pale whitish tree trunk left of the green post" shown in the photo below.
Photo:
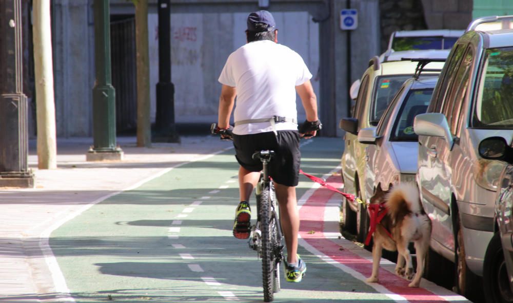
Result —
[{"label": "pale whitish tree trunk left of the green post", "polygon": [[50,0],[33,2],[37,167],[57,168]]}]

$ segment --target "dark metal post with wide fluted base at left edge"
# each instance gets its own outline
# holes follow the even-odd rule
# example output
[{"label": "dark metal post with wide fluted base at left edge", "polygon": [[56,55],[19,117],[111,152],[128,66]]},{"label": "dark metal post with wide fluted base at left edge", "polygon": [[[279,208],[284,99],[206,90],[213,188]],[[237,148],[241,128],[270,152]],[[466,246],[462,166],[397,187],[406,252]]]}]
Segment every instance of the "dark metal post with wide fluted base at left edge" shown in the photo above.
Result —
[{"label": "dark metal post with wide fluted base at left edge", "polygon": [[22,1],[0,0],[0,187],[34,187],[23,93]]}]

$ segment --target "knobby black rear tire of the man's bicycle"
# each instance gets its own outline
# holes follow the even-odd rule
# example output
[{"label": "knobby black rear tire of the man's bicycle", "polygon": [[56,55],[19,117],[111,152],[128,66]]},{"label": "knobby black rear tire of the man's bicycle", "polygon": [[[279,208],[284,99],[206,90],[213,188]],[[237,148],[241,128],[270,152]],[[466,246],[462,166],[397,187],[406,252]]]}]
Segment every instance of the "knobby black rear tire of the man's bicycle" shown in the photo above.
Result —
[{"label": "knobby black rear tire of the man's bicycle", "polygon": [[266,184],[260,193],[260,221],[262,231],[262,283],[264,286],[264,302],[274,299],[274,258],[272,250],[272,216],[269,185]]}]

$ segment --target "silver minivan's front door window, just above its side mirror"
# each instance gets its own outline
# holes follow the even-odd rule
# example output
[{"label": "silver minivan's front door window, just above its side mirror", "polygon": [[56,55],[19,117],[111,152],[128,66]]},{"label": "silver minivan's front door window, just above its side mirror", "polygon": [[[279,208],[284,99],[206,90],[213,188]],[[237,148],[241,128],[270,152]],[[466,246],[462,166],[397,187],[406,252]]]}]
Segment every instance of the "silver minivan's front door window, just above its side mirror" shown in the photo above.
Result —
[{"label": "silver minivan's front door window, just above its side mirror", "polygon": [[447,117],[447,123],[449,124],[451,134],[457,134],[457,126],[459,120],[459,114],[463,103],[465,101],[465,94],[469,85],[469,74],[470,67],[472,65],[473,50],[472,47],[467,48],[467,52],[461,64],[454,75],[451,87],[448,89],[447,100],[443,106],[442,113]]}]

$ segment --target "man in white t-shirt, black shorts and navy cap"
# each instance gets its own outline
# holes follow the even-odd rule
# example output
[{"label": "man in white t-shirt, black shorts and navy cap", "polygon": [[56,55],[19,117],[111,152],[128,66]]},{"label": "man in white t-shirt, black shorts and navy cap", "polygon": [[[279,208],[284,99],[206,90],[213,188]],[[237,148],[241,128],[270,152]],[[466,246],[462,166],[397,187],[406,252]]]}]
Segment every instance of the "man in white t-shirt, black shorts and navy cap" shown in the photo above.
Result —
[{"label": "man in white t-shirt, black shorts and navy cap", "polygon": [[[275,158],[269,164],[280,205],[280,220],[287,247],[285,262],[288,282],[300,282],[306,265],[298,256],[299,212],[295,187],[299,182],[300,137],[315,136],[321,123],[312,77],[301,56],[278,44],[278,29],[268,11],[249,14],[247,44],[228,57],[219,77],[218,131],[233,138],[235,158],[240,164],[240,203],[236,208],[233,235],[248,239],[251,209],[249,197],[256,186],[262,162],[253,160],[255,150],[271,149]],[[298,131],[296,92],[306,112]],[[235,127],[229,125],[234,111]]]}]

